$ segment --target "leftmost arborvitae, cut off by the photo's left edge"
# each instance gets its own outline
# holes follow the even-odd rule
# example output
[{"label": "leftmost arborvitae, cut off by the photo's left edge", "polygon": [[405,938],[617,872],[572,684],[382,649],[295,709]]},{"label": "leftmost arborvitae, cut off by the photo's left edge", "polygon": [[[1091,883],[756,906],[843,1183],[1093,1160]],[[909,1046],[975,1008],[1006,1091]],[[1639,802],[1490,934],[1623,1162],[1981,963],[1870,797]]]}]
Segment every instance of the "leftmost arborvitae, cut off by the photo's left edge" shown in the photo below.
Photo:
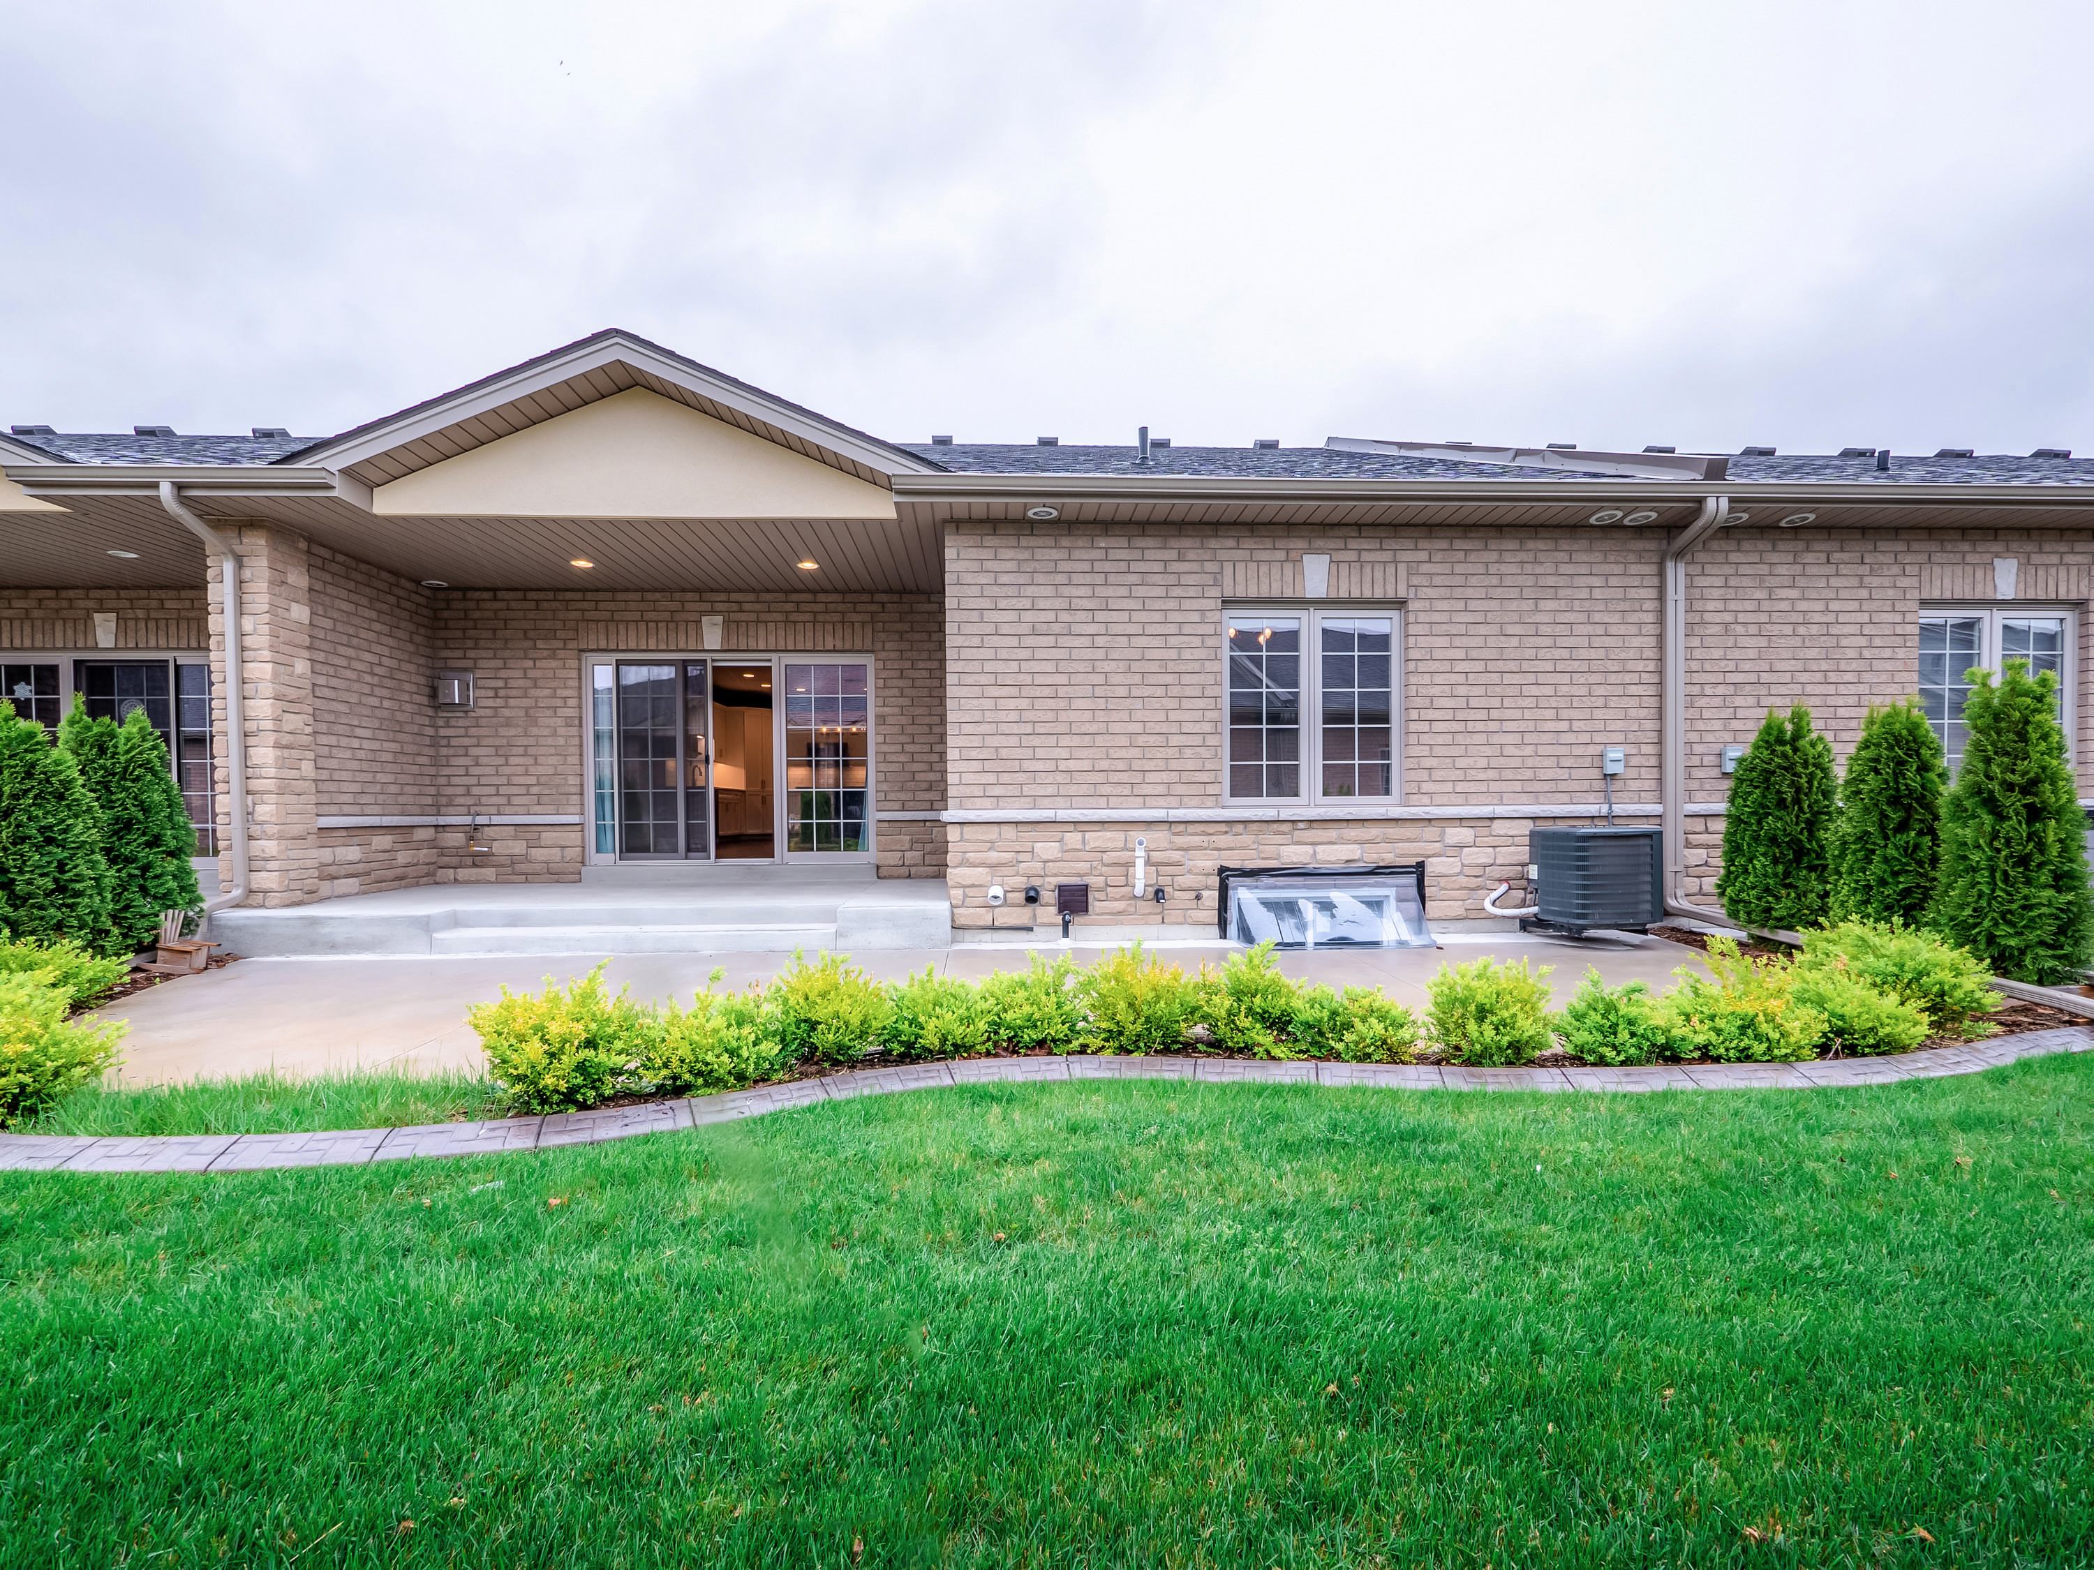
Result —
[{"label": "leftmost arborvitae, cut off by the photo's left edge", "polygon": [[101,808],[69,752],[0,703],[0,919],[15,938],[109,950]]}]

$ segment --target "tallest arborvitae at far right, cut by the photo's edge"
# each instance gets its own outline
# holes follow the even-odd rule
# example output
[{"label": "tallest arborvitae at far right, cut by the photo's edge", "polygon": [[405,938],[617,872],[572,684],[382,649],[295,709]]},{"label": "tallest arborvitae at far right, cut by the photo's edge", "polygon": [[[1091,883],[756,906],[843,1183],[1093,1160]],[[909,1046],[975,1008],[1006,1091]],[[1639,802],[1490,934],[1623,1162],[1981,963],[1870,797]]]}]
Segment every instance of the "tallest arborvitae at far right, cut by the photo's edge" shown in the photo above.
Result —
[{"label": "tallest arborvitae at far right, cut by the photo's edge", "polygon": [[1941,808],[1931,923],[1998,975],[2056,986],[2094,957],[2086,812],[2056,720],[2056,676],[1970,672],[1956,785]]}]

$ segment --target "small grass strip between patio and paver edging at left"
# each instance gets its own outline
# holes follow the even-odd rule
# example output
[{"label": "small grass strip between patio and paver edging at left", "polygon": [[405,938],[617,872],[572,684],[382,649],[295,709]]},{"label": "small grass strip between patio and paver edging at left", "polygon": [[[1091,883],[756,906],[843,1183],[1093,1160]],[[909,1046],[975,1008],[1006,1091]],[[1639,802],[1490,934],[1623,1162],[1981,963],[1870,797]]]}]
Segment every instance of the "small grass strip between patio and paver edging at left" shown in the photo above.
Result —
[{"label": "small grass strip between patio and paver edging at left", "polygon": [[500,1091],[477,1074],[354,1070],[314,1078],[247,1074],[149,1089],[88,1084],[10,1132],[283,1135],[500,1116]]}]

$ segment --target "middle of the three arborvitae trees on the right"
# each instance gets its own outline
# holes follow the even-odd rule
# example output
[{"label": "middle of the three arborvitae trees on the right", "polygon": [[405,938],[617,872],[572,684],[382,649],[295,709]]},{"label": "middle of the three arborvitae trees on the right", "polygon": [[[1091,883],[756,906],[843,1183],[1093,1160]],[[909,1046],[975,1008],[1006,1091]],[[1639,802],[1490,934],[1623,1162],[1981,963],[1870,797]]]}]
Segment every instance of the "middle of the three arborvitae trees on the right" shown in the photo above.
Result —
[{"label": "middle of the three arborvitae trees on the right", "polygon": [[1872,708],[1832,835],[1832,917],[1918,925],[1941,862],[1941,741],[1916,703]]}]

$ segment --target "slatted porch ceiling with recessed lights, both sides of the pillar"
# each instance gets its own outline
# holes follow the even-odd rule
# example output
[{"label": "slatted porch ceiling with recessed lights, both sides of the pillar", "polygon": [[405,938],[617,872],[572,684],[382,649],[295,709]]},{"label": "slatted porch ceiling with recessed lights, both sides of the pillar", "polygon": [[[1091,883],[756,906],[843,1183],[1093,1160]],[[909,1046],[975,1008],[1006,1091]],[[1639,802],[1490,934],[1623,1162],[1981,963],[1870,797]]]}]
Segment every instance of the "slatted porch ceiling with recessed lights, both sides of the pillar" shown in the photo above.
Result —
[{"label": "slatted porch ceiling with recessed lights, both sides of the pillar", "polygon": [[[203,546],[155,498],[69,496],[65,507],[0,513],[0,580],[203,582]],[[936,595],[944,582],[942,532],[928,519],[375,517],[333,496],[205,496],[191,507],[216,521],[285,523],[346,557],[452,588]],[[572,567],[574,557],[597,565]],[[821,565],[802,571],[800,561]]]}]

